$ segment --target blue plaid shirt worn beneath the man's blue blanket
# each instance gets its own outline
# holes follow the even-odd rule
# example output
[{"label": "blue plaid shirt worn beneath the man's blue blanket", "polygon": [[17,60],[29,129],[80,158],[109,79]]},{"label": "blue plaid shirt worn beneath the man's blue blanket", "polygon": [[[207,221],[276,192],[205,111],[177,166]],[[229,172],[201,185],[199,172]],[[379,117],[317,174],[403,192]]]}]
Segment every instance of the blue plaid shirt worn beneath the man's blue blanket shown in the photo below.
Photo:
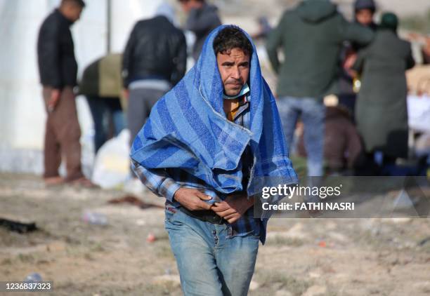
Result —
[{"label": "blue plaid shirt worn beneath the man's blue blanket", "polygon": [[[240,126],[249,128],[249,97],[247,95],[244,96],[239,109],[235,112],[233,121]],[[245,165],[250,166],[252,163],[242,163],[242,166]],[[211,196],[214,201],[223,201],[227,197],[226,194],[214,191],[202,180],[179,168],[148,169],[133,161],[133,170],[150,191],[157,196],[164,196],[166,198],[166,208],[178,208],[181,206],[180,203],[174,201],[174,194],[181,187],[200,189],[204,194]],[[263,227],[261,219],[256,219],[253,216],[254,206],[249,208],[240,220],[237,220],[233,224],[228,224],[229,236],[245,236],[249,233],[254,235],[260,234],[261,236],[261,231],[266,231],[266,227]],[[261,237],[265,236],[263,234]]]}]

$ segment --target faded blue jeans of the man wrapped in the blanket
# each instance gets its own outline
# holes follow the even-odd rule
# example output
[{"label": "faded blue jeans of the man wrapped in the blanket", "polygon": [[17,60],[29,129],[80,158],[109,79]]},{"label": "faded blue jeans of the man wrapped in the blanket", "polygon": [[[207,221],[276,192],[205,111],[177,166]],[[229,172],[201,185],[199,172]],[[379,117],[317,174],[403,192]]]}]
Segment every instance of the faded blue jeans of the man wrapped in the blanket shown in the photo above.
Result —
[{"label": "faded blue jeans of the man wrapped in the blanket", "polygon": [[177,208],[166,210],[165,227],[188,295],[247,295],[259,236],[228,236],[226,224],[202,222]]}]

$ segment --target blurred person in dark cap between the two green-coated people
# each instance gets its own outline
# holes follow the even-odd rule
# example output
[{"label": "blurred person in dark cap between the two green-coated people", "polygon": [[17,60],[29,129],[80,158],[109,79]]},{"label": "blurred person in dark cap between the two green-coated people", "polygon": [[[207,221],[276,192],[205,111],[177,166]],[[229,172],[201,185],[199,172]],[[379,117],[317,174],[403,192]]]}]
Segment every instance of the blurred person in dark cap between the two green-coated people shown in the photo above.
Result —
[{"label": "blurred person in dark cap between the two green-coated people", "polygon": [[[374,0],[356,0],[353,5],[354,21],[360,25],[368,27],[375,31],[377,25],[374,22],[374,14],[377,11],[377,6]],[[357,51],[363,46],[360,43],[346,41],[340,55],[340,74],[338,82],[337,96],[339,104],[344,105],[349,109],[351,114],[354,114],[356,104],[356,93],[360,83],[359,77],[354,79],[351,67],[357,59]],[[356,83],[356,86],[354,86]]]}]

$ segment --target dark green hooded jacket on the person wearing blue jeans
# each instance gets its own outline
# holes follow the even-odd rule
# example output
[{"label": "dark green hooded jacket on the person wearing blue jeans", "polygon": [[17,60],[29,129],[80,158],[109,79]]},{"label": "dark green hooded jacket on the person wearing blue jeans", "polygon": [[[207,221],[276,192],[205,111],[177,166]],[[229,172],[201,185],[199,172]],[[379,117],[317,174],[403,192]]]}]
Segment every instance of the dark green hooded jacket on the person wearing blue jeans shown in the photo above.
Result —
[{"label": "dark green hooded jacket on the person wearing blue jeans", "polygon": [[[286,11],[266,45],[278,74],[278,96],[321,99],[337,78],[338,59],[344,41],[366,45],[373,32],[347,22],[328,0],[306,0]],[[278,59],[283,49],[284,61]]]}]

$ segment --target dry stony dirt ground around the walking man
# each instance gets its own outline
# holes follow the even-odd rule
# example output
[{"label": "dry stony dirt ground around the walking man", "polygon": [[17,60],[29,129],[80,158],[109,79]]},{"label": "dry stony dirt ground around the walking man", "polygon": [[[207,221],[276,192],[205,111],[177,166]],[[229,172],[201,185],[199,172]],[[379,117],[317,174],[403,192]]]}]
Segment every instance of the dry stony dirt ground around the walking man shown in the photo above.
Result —
[{"label": "dry stony dirt ground around the walking man", "polygon": [[[39,228],[0,227],[0,281],[37,272],[53,281],[46,295],[181,295],[163,210],[107,203],[123,194],[0,174],[0,217]],[[162,205],[152,194],[143,199]],[[107,225],[85,222],[85,210]],[[272,219],[249,295],[430,295],[429,236],[428,219]]]}]

